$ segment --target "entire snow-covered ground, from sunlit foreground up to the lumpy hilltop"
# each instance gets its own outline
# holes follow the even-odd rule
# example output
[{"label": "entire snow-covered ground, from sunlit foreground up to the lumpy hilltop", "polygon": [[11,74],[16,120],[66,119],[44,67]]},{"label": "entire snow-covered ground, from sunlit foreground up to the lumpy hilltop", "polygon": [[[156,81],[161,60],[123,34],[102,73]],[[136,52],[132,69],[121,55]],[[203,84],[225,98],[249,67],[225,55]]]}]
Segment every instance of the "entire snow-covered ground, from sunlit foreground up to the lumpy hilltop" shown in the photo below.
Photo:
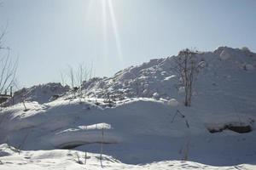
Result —
[{"label": "entire snow-covered ground, from sunlit foreground up to the lumpy hilltop", "polygon": [[[205,65],[191,107],[183,106],[172,57],[84,82],[82,99],[61,90],[49,101],[27,89],[28,111],[19,103],[0,112],[1,147],[22,150],[5,156],[1,149],[0,169],[96,169],[101,150],[109,169],[256,168],[256,54],[222,47],[197,55]],[[84,166],[75,153],[85,152]]]}]

